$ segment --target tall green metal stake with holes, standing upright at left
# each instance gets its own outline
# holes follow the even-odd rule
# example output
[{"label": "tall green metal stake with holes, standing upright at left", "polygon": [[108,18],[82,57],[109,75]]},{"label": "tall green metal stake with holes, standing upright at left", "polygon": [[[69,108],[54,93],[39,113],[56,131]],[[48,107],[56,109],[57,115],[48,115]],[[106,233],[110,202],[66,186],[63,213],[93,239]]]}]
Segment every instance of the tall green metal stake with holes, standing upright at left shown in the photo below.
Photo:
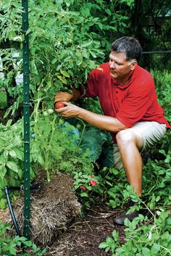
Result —
[{"label": "tall green metal stake with holes, standing upright at left", "polygon": [[22,0],[23,39],[23,111],[24,111],[24,228],[23,236],[30,239],[30,94],[29,94],[29,41],[28,0]]}]

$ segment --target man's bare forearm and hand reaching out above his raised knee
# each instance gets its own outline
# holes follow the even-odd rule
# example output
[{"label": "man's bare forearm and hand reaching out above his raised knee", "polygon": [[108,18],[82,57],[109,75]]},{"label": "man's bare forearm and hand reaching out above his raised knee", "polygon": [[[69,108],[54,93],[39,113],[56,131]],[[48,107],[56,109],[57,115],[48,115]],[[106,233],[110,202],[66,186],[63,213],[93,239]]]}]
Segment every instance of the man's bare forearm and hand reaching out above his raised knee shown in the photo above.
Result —
[{"label": "man's bare forearm and hand reaching out above his raised knee", "polygon": [[63,102],[65,107],[55,110],[62,117],[79,117],[87,123],[100,128],[104,131],[111,131],[117,133],[127,129],[128,127],[121,123],[117,118],[109,117],[106,115],[99,115],[88,110],[84,110],[81,107],[71,104],[69,102]]}]

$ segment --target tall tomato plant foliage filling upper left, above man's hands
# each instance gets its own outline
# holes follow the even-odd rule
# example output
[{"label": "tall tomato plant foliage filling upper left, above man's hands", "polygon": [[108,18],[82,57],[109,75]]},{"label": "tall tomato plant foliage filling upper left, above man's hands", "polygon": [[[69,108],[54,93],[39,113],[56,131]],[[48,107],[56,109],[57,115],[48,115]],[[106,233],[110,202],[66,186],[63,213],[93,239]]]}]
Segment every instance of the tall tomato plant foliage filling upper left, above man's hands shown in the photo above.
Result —
[{"label": "tall tomato plant foliage filling upper left, above man's hands", "polygon": [[[111,44],[111,31],[116,32],[118,24],[120,30],[127,26],[127,17],[118,11],[120,6],[130,9],[133,0],[109,3],[103,0],[29,2],[27,33],[30,40],[30,92],[33,103],[38,91],[41,94],[38,98],[49,107],[59,90],[70,91],[72,87],[85,84],[93,67],[104,62],[104,51],[109,51]],[[3,0],[0,9],[3,87],[14,99],[13,107],[7,111],[9,115],[17,110],[22,101],[22,86],[14,85],[14,78],[22,73],[21,2]],[[14,57],[16,54],[17,57]]]}]

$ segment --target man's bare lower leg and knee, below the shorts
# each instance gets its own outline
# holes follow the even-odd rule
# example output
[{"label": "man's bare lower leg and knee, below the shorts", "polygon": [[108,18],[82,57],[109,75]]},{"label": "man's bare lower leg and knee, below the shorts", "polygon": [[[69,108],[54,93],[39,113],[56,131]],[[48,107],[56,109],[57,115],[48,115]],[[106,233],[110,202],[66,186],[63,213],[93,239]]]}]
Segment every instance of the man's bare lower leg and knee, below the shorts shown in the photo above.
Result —
[{"label": "man's bare lower leg and knee, below the shorts", "polygon": [[141,197],[142,158],[139,149],[143,147],[143,137],[141,133],[129,128],[117,133],[116,139],[128,182],[133,185],[135,192]]}]

